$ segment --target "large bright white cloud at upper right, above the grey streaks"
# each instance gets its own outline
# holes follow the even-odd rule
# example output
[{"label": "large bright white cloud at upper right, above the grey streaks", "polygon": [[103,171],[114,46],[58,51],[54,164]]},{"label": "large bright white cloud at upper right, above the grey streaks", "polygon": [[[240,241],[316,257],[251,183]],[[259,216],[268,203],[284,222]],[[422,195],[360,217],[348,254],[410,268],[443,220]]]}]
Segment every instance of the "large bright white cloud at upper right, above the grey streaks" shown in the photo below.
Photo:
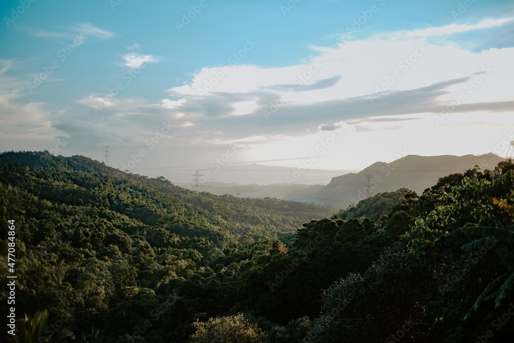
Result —
[{"label": "large bright white cloud at upper right, above the grey streaks", "polygon": [[[386,32],[368,39],[343,41],[336,47],[314,47],[321,52],[321,56],[301,65],[280,68],[248,65],[203,68],[189,82],[173,87],[168,92],[187,99],[191,105],[216,94],[237,94],[238,103],[249,104],[250,101],[259,103],[255,100],[255,94],[276,100],[292,86],[293,92],[287,96],[288,100],[283,107],[313,105],[366,95],[375,96],[382,86],[387,92],[423,88],[450,79],[470,77],[481,73],[482,68],[489,65],[495,71],[479,87],[475,87],[472,94],[467,94],[464,88],[467,81],[464,81],[449,87],[449,93],[442,94],[439,100],[448,101],[458,93],[466,92],[466,99],[462,103],[502,101],[511,98],[509,84],[514,77],[511,67],[514,48],[472,52],[452,41],[433,43],[431,38],[492,28],[511,20],[485,19],[478,24],[451,24]],[[316,61],[320,65],[319,70],[311,73]],[[328,87],[314,87],[321,80],[334,79],[339,75],[342,76],[340,81]],[[303,86],[296,89],[300,84]],[[263,102],[269,103],[269,100]],[[227,103],[227,106],[236,108],[235,114],[250,113],[250,110],[238,110],[240,105],[237,103]]]}]

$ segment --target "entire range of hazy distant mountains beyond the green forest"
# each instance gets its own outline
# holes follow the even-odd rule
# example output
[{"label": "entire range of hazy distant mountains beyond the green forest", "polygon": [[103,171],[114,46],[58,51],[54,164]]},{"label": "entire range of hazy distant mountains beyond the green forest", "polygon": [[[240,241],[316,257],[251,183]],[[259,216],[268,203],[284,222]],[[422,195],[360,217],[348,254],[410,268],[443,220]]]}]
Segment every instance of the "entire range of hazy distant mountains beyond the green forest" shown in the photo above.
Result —
[{"label": "entire range of hazy distant mountains beyond the green forest", "polygon": [[[372,193],[377,194],[386,191],[396,191],[402,187],[411,189],[418,194],[437,183],[440,177],[452,173],[462,173],[464,170],[471,169],[475,165],[484,169],[494,169],[503,158],[495,154],[485,155],[465,155],[465,156],[418,156],[408,155],[392,161],[391,163],[376,162],[358,173],[347,173],[332,177],[327,185],[307,184],[309,180],[327,177],[335,171],[313,171],[310,175],[305,173],[299,180],[305,184],[285,184],[283,183],[287,173],[293,168],[268,167],[262,165],[248,165],[244,167],[232,167],[230,171],[247,171],[255,173],[255,179],[263,182],[265,179],[277,180],[277,183],[268,185],[237,184],[224,182],[206,182],[201,187],[201,191],[216,195],[231,194],[240,197],[277,197],[283,200],[314,203],[320,205],[333,206],[336,209],[345,209],[352,203],[357,203],[366,196],[366,175],[372,175]],[[279,173],[279,174],[276,174]],[[240,177],[246,177],[246,175]],[[324,174],[324,175],[323,175]],[[304,178],[306,177],[306,178]],[[176,185],[191,189],[191,184],[176,183]]]}]

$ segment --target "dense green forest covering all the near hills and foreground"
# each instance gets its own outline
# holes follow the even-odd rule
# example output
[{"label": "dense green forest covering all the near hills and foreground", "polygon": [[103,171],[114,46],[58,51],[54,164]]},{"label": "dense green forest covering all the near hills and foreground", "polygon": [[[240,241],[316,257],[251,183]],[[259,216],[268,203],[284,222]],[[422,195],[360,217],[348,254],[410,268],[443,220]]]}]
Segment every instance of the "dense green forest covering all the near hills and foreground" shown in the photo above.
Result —
[{"label": "dense green forest covering all the near hills and foreground", "polygon": [[419,197],[400,189],[331,215],[271,198],[195,196],[81,156],[0,154],[3,250],[16,220],[17,328],[32,343],[59,321],[40,336],[512,340],[511,170],[499,165],[493,180],[473,168]]}]

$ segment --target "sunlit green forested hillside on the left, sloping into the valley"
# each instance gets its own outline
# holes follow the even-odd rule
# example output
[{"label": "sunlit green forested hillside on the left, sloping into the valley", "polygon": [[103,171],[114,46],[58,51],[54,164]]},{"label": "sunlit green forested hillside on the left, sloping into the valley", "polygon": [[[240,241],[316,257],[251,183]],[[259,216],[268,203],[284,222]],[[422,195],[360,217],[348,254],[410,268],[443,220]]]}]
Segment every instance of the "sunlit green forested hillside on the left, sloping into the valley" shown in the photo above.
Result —
[{"label": "sunlit green forested hillside on the left, sloping into the valley", "polygon": [[[285,249],[303,223],[334,212],[274,198],[195,196],[162,177],[47,152],[0,154],[0,199],[2,251],[4,224],[16,224],[18,313],[72,311],[76,332],[103,327],[100,315],[133,305],[126,301],[155,307],[216,266]],[[174,329],[179,336],[188,336],[195,313],[177,314],[187,324]],[[123,325],[112,330],[132,334]]]}]

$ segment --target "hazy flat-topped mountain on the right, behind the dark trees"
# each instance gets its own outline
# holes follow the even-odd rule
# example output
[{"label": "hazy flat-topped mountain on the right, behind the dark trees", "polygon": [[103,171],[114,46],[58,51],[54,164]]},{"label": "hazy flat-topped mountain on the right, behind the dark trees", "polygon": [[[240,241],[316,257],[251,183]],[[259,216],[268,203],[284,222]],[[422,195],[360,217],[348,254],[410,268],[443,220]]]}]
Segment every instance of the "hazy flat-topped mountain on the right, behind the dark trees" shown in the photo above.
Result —
[{"label": "hazy flat-topped mountain on the right, behind the dark trees", "polygon": [[345,209],[366,197],[365,176],[370,174],[372,193],[393,192],[400,188],[415,191],[418,195],[437,183],[440,177],[462,173],[479,165],[482,170],[492,170],[504,158],[495,154],[465,156],[408,155],[391,163],[376,162],[359,173],[333,177],[331,182],[313,195],[298,197],[296,201],[334,206]]}]

